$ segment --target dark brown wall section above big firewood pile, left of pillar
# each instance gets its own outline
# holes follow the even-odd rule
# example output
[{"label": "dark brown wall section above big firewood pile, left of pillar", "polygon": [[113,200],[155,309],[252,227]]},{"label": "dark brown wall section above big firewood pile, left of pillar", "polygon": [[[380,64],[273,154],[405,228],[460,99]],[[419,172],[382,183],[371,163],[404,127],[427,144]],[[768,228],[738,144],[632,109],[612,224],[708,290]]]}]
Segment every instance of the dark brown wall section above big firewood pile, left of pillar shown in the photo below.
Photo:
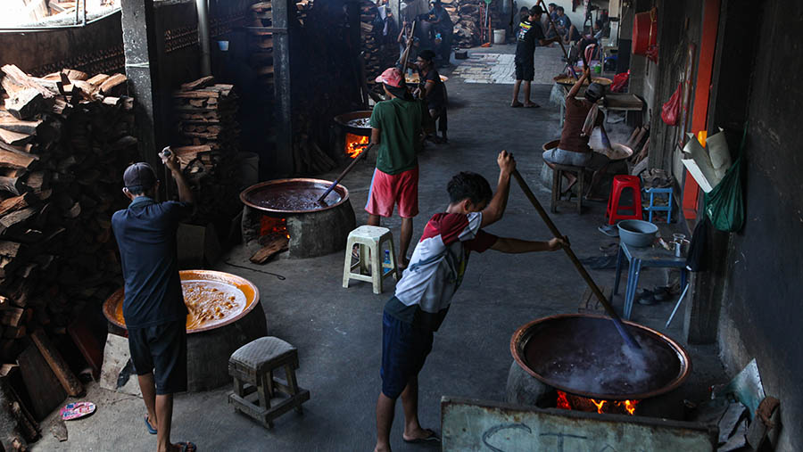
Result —
[{"label": "dark brown wall section above big firewood pile, left of pillar", "polygon": [[0,64],[16,64],[41,76],[63,68],[90,74],[122,72],[120,12],[86,27],[29,33],[0,33]]}]

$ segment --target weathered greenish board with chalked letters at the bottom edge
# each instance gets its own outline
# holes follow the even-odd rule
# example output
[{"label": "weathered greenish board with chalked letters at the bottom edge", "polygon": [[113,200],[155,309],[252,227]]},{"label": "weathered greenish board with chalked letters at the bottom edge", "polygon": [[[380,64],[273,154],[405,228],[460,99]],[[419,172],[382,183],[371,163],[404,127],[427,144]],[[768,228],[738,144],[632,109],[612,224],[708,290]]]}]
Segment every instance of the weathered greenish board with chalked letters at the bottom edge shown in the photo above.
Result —
[{"label": "weathered greenish board with chalked letters at the bottom edge", "polygon": [[444,452],[572,450],[713,452],[716,427],[653,417],[527,409],[498,402],[443,397]]}]

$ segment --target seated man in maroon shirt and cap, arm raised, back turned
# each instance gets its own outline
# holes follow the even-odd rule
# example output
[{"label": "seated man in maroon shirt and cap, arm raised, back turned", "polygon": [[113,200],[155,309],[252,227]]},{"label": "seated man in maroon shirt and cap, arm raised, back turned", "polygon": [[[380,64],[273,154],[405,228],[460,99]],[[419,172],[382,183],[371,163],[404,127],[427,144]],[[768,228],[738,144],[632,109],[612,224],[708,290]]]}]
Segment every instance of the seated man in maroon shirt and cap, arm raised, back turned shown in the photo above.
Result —
[{"label": "seated man in maroon shirt and cap, arm raised, back turned", "polygon": [[[583,76],[575,82],[575,86],[569,90],[566,96],[566,119],[563,121],[563,132],[560,134],[560,143],[555,149],[543,152],[543,161],[550,167],[554,164],[570,165],[574,167],[584,167],[594,170],[592,183],[589,184],[586,193],[592,193],[594,185],[597,185],[602,174],[608,168],[610,159],[600,152],[593,152],[589,147],[589,137],[594,127],[600,127],[603,136],[604,115],[599,111],[597,101],[604,97],[605,87],[599,83],[592,83],[585,90],[583,100],[577,98],[580,87],[585,80],[590,78],[590,71],[584,68]],[[571,190],[577,181],[576,177],[564,172],[564,177],[568,180],[566,192]],[[584,193],[580,193],[583,196]]]}]

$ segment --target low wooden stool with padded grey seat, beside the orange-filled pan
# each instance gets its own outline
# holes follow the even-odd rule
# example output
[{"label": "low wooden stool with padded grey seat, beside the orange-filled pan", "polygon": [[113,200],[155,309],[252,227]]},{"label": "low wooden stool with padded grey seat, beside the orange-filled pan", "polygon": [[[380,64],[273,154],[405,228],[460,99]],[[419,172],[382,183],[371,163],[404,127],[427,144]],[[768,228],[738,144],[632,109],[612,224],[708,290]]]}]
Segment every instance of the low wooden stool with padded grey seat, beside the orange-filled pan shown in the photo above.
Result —
[{"label": "low wooden stool with padded grey seat, beside the orange-filled pan", "polygon": [[[273,371],[280,367],[285,368],[284,383],[273,378]],[[310,399],[310,391],[298,387],[297,368],[298,351],[286,341],[266,336],[245,344],[228,358],[228,374],[234,378],[234,391],[229,392],[228,403],[268,428],[273,427],[274,419],[293,408],[302,413],[302,403]],[[289,397],[271,407],[270,399],[276,390]],[[258,397],[249,398],[254,392]]]}]

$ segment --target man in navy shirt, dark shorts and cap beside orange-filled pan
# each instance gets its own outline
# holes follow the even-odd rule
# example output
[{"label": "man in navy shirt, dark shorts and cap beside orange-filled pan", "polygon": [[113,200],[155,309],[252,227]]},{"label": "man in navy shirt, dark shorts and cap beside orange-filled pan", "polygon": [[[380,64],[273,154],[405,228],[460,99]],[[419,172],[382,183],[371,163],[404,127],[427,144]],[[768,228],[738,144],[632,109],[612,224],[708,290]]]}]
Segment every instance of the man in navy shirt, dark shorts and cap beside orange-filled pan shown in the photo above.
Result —
[{"label": "man in navy shirt, dark shorts and cap beside orange-filled pan", "polygon": [[[156,436],[157,450],[194,451],[191,442],[170,442],[173,394],[186,390],[186,305],[178,277],[176,230],[192,213],[193,193],[176,155],[160,154],[178,184],[178,202],[156,202],[156,172],[134,163],[123,174],[128,209],[112,216],[125,279],[123,317],[131,362],[148,414],[145,429]],[[142,424],[140,424],[142,425]]]}]

